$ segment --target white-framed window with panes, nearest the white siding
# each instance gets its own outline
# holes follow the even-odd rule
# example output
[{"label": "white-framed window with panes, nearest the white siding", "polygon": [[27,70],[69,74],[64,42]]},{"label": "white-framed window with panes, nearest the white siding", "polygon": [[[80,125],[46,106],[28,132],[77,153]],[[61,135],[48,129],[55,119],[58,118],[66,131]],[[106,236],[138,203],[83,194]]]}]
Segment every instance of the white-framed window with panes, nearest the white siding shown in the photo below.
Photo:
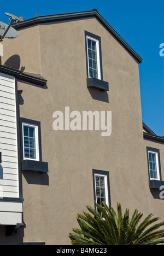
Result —
[{"label": "white-framed window with panes, nearest the white siding", "polygon": [[39,161],[38,125],[22,123],[24,159]]}]

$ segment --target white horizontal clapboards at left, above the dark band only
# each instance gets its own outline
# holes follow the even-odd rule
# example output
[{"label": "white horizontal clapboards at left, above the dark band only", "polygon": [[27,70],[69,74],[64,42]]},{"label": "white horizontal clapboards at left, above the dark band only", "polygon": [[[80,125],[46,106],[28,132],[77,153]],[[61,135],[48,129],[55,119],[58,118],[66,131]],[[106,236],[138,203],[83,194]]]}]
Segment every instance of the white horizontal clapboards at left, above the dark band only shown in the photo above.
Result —
[{"label": "white horizontal clapboards at left, above the dark band only", "polygon": [[4,197],[19,197],[15,79],[2,73],[0,73],[0,152],[2,152],[0,190],[3,190]]}]

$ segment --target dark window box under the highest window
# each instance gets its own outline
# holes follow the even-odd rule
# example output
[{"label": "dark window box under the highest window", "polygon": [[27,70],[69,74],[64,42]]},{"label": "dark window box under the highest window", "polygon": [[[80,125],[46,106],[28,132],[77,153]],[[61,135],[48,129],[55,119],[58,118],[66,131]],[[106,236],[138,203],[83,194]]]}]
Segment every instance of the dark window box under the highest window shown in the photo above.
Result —
[{"label": "dark window box under the highest window", "polygon": [[86,79],[87,87],[93,87],[101,89],[102,91],[109,91],[109,84],[103,80],[97,78],[89,77]]}]

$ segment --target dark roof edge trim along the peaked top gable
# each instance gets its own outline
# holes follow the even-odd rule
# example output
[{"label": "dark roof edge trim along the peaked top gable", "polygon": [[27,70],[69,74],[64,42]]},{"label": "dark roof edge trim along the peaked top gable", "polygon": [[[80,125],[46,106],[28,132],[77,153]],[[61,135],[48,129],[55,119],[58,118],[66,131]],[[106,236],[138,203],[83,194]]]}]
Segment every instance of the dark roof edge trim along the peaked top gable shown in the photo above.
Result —
[{"label": "dark roof edge trim along the peaked top gable", "polygon": [[21,28],[26,28],[34,25],[45,24],[47,22],[56,22],[56,21],[66,21],[66,20],[75,20],[75,19],[86,19],[86,18],[97,18],[104,27],[114,36],[116,40],[132,55],[132,57],[137,61],[137,63],[142,63],[142,58],[128,45],[125,40],[114,30],[112,26],[108,24],[106,20],[98,13],[97,9],[79,11],[76,13],[66,13],[66,14],[52,14],[46,16],[37,16],[32,19],[24,20],[18,24],[13,24],[13,27],[16,30]]}]

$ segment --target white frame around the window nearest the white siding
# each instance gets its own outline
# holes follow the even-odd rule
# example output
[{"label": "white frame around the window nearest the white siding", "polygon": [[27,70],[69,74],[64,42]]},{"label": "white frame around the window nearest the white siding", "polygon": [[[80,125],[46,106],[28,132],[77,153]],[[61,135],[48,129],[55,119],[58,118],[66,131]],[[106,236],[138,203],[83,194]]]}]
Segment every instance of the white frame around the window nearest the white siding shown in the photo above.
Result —
[{"label": "white frame around the window nearest the white siding", "polygon": [[[25,146],[24,146],[24,126],[33,127],[35,131],[35,142],[36,142],[36,158],[25,158]],[[22,142],[23,142],[23,159],[39,161],[39,137],[38,137],[38,125],[22,122]]]}]

